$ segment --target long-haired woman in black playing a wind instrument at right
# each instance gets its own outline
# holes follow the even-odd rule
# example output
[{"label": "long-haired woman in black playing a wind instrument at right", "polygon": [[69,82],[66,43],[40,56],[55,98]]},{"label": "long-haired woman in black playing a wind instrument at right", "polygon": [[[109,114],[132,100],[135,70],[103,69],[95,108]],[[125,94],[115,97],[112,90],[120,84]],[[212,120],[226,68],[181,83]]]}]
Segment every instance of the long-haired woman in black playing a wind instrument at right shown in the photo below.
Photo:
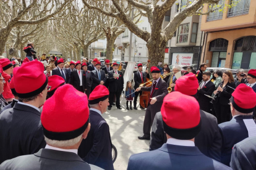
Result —
[{"label": "long-haired woman in black playing a wind instrument at right", "polygon": [[222,78],[223,81],[220,83],[220,86],[213,92],[216,97],[213,102],[213,110],[215,111],[218,124],[230,120],[229,99],[236,88],[231,71],[224,71]]}]

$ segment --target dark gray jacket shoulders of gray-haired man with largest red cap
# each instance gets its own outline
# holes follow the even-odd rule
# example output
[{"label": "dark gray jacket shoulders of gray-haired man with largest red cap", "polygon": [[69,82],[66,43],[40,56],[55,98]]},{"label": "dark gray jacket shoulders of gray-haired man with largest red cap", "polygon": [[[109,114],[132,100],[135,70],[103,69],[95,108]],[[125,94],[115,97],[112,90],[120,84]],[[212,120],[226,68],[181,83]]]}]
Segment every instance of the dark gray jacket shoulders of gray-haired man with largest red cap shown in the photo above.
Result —
[{"label": "dark gray jacket shoulders of gray-haired man with largest red cap", "polygon": [[0,170],[56,170],[56,169],[101,169],[85,163],[77,154],[51,149],[41,149],[33,155],[24,155],[5,161]]}]

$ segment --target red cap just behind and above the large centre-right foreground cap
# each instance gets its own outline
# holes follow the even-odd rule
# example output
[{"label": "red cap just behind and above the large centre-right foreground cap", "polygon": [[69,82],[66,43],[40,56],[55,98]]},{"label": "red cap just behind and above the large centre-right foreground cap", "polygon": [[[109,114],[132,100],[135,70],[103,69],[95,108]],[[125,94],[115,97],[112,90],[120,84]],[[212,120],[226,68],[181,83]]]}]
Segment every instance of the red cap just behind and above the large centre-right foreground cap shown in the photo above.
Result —
[{"label": "red cap just behind and above the large centre-right foreground cap", "polygon": [[199,84],[195,74],[189,73],[176,80],[174,90],[186,95],[195,95],[197,94],[198,86]]}]

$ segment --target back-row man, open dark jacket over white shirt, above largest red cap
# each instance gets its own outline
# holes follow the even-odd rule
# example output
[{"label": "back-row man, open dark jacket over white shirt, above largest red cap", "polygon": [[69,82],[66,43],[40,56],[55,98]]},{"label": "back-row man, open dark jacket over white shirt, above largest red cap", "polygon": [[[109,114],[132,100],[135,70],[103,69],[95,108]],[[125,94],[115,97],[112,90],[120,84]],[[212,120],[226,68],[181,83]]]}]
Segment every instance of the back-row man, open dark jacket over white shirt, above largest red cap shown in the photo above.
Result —
[{"label": "back-row man, open dark jacket over white shirt, above largest red cap", "polygon": [[70,84],[75,87],[80,92],[85,92],[85,71],[81,70],[81,62],[77,61],[75,63],[75,71],[70,73]]}]

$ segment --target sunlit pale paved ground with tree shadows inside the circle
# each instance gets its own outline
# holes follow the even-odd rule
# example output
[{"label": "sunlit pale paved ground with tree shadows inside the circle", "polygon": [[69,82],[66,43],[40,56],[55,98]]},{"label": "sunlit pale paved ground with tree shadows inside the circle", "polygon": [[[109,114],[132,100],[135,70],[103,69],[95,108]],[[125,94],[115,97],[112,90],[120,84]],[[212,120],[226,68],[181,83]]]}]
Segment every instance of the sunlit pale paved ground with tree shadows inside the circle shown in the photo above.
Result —
[{"label": "sunlit pale paved ground with tree shadows inside the circle", "polygon": [[114,162],[114,169],[127,169],[130,155],[134,153],[147,152],[149,140],[139,140],[138,136],[143,134],[142,127],[145,110],[126,110],[126,103],[122,110],[112,107],[103,114],[109,124],[112,143],[117,148],[117,159]]}]

